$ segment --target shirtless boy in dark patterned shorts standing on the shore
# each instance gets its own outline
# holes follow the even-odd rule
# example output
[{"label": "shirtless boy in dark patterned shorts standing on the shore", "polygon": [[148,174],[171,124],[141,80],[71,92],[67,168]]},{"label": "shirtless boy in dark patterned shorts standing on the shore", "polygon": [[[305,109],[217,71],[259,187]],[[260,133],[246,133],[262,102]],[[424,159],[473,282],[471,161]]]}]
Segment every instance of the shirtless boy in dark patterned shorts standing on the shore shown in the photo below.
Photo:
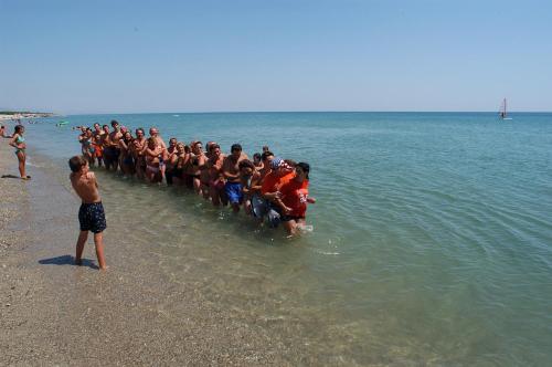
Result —
[{"label": "shirtless boy in dark patterned shorts standing on the shore", "polygon": [[78,210],[78,222],[81,223],[81,233],[76,242],[75,263],[83,263],[83,250],[88,231],[94,233],[94,244],[96,245],[96,255],[100,270],[106,270],[104,258],[104,239],[103,231],[106,229],[104,206],[99,197],[98,182],[94,172],[88,171],[88,162],[84,157],[74,156],[68,161],[71,168],[71,185],[78,197],[83,200]]}]

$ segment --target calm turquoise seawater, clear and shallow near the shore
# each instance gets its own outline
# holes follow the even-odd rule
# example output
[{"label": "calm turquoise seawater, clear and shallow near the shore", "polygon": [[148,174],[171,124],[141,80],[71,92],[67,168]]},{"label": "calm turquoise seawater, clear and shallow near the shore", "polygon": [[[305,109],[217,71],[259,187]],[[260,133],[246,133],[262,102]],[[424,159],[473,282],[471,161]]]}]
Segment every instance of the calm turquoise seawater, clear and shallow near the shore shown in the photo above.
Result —
[{"label": "calm turquoise seawater, clear and shallow near the shore", "polygon": [[[97,171],[106,237],[229,310],[291,321],[358,364],[552,364],[552,114],[78,115],[28,125],[67,185],[72,126],[157,126],[311,166],[312,231],[286,239],[185,190]],[[33,157],[34,155],[34,157]],[[146,251],[147,256],[140,254]],[[121,266],[124,266],[121,264]]]}]

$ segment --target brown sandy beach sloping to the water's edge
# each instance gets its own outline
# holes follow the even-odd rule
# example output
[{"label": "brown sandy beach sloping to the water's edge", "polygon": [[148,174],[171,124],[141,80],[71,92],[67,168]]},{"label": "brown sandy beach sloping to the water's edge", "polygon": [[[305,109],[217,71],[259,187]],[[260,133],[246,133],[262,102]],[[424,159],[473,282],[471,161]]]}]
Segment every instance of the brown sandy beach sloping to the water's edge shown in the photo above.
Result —
[{"label": "brown sandy beach sloping to the water's edge", "polygon": [[[12,156],[0,141],[1,175],[17,175]],[[148,263],[140,259],[155,256],[155,244],[150,253],[132,251],[120,233],[109,232],[117,220],[109,213],[109,270],[97,270],[92,237],[84,265],[75,266],[79,201],[41,169],[29,174],[28,182],[0,179],[0,365],[357,364],[326,348],[331,340],[317,331],[318,321],[297,323],[248,307],[263,302],[262,294],[227,310],[216,287],[201,280],[140,266]],[[306,327],[315,333],[311,343]]]}]

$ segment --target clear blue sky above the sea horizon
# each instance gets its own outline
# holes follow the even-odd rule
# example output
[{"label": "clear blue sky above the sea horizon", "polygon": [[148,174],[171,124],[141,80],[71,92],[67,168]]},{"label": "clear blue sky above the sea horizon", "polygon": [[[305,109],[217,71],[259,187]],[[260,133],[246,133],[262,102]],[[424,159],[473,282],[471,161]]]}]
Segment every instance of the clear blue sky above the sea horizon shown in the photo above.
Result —
[{"label": "clear blue sky above the sea horizon", "polygon": [[552,111],[552,1],[0,0],[0,108]]}]

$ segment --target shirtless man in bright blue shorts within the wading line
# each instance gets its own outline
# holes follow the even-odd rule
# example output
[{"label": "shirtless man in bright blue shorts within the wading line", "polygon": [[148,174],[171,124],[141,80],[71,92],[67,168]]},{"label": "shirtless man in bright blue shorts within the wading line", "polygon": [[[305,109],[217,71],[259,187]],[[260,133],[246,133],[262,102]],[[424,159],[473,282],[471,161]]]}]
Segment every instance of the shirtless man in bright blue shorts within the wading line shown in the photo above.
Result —
[{"label": "shirtless man in bright blue shorts within the wading line", "polygon": [[226,184],[224,184],[226,198],[232,206],[232,210],[236,213],[240,211],[240,206],[243,202],[242,184],[240,182],[240,162],[248,158],[242,151],[240,144],[232,145],[230,150],[231,155],[226,156],[223,160],[222,174],[226,179]]}]

